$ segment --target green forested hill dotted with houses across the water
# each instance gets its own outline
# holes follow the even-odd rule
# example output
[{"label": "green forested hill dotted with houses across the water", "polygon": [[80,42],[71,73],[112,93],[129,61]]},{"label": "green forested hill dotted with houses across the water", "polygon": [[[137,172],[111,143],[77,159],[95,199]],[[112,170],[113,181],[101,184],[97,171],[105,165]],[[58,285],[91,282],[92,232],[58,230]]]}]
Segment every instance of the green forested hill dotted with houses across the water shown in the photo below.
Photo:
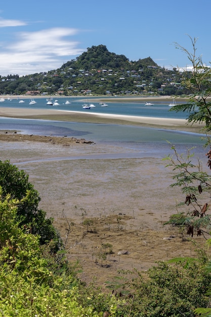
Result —
[{"label": "green forested hill dotted with houses across the water", "polygon": [[0,76],[2,95],[182,95],[181,75],[158,66],[151,57],[130,61],[92,46],[60,68],[19,77]]}]

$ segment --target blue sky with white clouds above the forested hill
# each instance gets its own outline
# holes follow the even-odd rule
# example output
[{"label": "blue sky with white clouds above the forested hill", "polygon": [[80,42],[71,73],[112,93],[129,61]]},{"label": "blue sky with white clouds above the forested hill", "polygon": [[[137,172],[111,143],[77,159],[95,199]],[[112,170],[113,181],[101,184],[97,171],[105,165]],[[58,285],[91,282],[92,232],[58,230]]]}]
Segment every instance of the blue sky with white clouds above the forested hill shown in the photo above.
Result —
[{"label": "blue sky with white clouds above the forested hill", "polygon": [[186,67],[187,34],[208,65],[208,0],[28,0],[0,4],[0,75],[33,74],[61,67],[87,48],[105,45],[129,60],[151,57],[167,68]]}]

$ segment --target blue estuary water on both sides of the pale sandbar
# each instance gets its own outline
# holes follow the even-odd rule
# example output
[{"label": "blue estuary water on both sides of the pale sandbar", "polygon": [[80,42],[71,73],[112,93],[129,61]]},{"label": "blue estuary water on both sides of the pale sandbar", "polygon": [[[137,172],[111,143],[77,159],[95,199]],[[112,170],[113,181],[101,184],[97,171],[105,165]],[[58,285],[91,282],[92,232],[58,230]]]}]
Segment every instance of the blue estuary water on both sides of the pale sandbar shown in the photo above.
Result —
[{"label": "blue estuary water on both sides of the pale sandbar", "polygon": [[[53,99],[53,101],[56,98]],[[83,109],[82,104],[88,103],[86,98],[73,97],[73,98],[60,98],[58,97],[59,106],[46,105],[46,98],[34,98],[36,104],[29,105],[29,98],[22,99],[25,102],[19,103],[18,99],[12,99],[11,101],[5,99],[0,103],[0,109],[2,107],[17,107],[21,108],[24,113],[24,109],[36,108],[36,109],[58,109],[65,111],[80,111],[80,112],[94,112],[94,113],[109,113],[109,114],[123,114],[123,115],[136,115],[136,116],[152,116],[152,117],[164,117],[164,118],[187,118],[187,113],[169,111],[169,102],[163,103],[155,101],[153,99],[153,106],[145,106],[145,102],[141,103],[130,102],[109,102],[109,98],[106,99],[108,106],[102,107],[99,102],[93,102],[96,107],[91,109]],[[65,104],[66,101],[70,104]],[[92,97],[92,101],[95,97]],[[105,98],[103,98],[105,100]],[[180,147],[184,146],[197,146],[201,150],[203,141],[201,135],[196,133],[189,133],[183,131],[174,131],[167,129],[155,129],[147,127],[137,127],[131,125],[113,125],[113,124],[91,124],[91,123],[75,123],[75,122],[62,122],[62,121],[48,121],[48,120],[29,120],[29,119],[16,119],[0,117],[0,129],[1,130],[18,130],[22,134],[37,134],[37,135],[51,135],[51,136],[66,136],[75,138],[85,138],[94,142],[104,142],[107,144],[117,144],[125,146],[128,149],[139,149],[143,147],[149,151],[161,153],[164,149],[169,149],[171,142],[177,144]],[[148,152],[148,150],[146,152]]]}]

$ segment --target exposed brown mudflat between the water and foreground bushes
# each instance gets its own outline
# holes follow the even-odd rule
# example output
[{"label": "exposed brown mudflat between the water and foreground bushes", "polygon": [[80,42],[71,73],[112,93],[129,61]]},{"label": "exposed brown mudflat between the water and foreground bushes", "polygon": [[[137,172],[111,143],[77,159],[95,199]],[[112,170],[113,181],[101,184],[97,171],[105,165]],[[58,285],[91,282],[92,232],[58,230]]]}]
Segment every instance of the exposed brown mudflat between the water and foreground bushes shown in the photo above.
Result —
[{"label": "exposed brown mudflat between the water and foreground bushes", "polygon": [[[89,283],[96,277],[95,283],[105,287],[119,269],[144,271],[155,261],[196,255],[176,228],[163,226],[183,196],[169,187],[173,172],[160,159],[106,158],[125,149],[13,132],[0,134],[0,150],[1,160],[29,174],[40,208],[54,218],[66,242],[68,259],[82,266],[81,280]],[[93,153],[100,159],[91,159]],[[85,219],[91,220],[89,226]],[[204,245],[202,236],[194,239]],[[106,244],[112,254],[103,259]],[[129,254],[118,255],[121,250]]]}]

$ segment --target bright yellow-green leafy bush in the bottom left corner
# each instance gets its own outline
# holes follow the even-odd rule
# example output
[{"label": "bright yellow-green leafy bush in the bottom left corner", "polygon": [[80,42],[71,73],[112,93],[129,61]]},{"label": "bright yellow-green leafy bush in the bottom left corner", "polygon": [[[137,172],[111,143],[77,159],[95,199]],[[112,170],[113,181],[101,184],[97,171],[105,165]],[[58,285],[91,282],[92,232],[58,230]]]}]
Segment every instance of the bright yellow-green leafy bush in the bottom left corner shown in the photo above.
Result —
[{"label": "bright yellow-green leafy bush in the bottom left corner", "polygon": [[[90,299],[86,305],[79,303],[79,282],[74,275],[51,271],[48,259],[42,256],[39,237],[20,227],[16,214],[25,199],[11,199],[9,194],[4,200],[2,192],[0,187],[0,315],[102,316]],[[117,302],[110,299],[109,304],[111,315],[116,315]]]}]

